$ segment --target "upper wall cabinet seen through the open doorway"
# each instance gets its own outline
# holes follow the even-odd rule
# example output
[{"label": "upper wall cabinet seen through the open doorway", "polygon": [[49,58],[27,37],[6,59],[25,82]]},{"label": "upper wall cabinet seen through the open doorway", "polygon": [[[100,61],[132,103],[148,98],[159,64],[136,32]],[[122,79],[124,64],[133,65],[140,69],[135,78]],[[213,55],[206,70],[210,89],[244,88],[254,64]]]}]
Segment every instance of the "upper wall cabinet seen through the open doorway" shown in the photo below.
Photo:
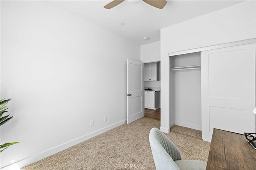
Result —
[{"label": "upper wall cabinet seen through the open doorway", "polygon": [[144,80],[160,80],[160,62],[144,63]]}]

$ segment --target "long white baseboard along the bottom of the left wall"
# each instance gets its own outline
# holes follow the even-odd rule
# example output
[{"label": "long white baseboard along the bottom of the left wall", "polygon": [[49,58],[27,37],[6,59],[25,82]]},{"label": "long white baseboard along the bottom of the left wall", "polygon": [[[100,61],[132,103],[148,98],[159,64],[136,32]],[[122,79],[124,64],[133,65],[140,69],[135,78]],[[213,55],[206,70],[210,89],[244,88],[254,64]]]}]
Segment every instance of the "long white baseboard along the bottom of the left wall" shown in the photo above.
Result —
[{"label": "long white baseboard along the bottom of the left wall", "polygon": [[62,145],[56,146],[56,147],[54,147],[52,149],[45,150],[44,152],[41,152],[41,153],[36,154],[34,156],[30,156],[30,157],[25,158],[23,160],[19,160],[19,161],[14,162],[14,163],[12,163],[10,165],[4,166],[4,167],[1,168],[1,170],[13,170],[14,166],[18,166],[19,168],[23,168],[25,166],[28,166],[28,165],[34,163],[34,162],[37,162],[38,160],[42,160],[42,159],[44,159],[44,158],[46,158],[48,156],[51,156],[51,155],[56,154],[56,153],[58,153],[58,152],[60,152],[62,150],[65,150],[65,149],[67,149],[69,147],[77,145],[78,143],[81,143],[81,142],[86,141],[86,140],[88,140],[88,139],[90,139],[92,137],[100,135],[100,134],[102,134],[102,133],[104,133],[106,131],[114,129],[115,127],[118,127],[118,126],[124,124],[125,122],[126,122],[126,119],[123,120],[123,121],[114,123],[112,125],[109,125],[107,127],[104,127],[102,129],[99,129],[97,131],[94,131],[92,133],[89,133],[87,135],[84,135],[82,137],[79,137],[77,139],[74,139],[72,141],[69,141],[67,143],[64,143]]}]

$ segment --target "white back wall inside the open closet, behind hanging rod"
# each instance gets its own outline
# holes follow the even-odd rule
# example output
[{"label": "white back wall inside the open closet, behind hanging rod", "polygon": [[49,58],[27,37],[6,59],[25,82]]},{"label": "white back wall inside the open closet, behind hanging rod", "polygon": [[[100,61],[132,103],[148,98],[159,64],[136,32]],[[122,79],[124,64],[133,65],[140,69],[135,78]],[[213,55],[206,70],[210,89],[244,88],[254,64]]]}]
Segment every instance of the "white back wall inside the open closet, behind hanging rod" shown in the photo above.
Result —
[{"label": "white back wall inside the open closet, behind hanging rod", "polygon": [[[200,52],[173,56],[174,67],[200,65]],[[201,71],[174,72],[174,124],[201,130]]]}]

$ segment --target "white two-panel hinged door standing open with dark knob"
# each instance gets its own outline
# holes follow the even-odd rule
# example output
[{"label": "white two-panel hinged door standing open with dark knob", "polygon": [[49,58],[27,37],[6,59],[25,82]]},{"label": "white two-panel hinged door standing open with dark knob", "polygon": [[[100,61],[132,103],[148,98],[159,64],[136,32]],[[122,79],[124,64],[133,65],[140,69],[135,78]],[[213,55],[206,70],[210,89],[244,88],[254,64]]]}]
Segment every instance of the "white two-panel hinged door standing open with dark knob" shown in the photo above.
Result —
[{"label": "white two-panel hinged door standing open with dark knob", "polygon": [[144,66],[127,59],[127,123],[144,117]]}]

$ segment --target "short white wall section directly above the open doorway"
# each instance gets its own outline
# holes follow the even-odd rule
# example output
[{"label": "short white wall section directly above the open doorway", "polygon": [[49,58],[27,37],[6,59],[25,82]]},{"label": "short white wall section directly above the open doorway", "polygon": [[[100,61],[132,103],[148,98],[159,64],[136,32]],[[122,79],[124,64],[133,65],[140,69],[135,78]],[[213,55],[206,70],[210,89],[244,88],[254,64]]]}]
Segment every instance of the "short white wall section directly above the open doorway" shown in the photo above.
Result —
[{"label": "short white wall section directly above the open doorway", "polygon": [[141,45],[140,61],[143,63],[160,61],[160,41]]}]

